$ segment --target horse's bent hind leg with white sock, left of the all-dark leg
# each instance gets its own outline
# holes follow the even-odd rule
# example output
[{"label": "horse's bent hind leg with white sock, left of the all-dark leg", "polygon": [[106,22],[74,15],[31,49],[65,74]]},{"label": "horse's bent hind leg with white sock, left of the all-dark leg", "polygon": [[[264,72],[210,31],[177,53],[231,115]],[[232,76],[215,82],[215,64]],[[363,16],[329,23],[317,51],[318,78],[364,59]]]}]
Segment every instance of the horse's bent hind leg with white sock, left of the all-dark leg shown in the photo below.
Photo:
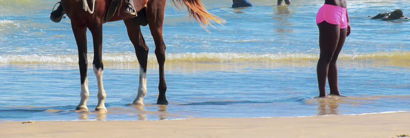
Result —
[{"label": "horse's bent hind leg with white sock, left of the all-dark leg", "polygon": [[124,23],[127,26],[128,37],[134,45],[135,54],[137,55],[139,63],[138,94],[132,104],[144,105],[142,101],[147,94],[147,62],[149,48],[142,36],[140,26],[135,26],[131,20],[124,20]]}]

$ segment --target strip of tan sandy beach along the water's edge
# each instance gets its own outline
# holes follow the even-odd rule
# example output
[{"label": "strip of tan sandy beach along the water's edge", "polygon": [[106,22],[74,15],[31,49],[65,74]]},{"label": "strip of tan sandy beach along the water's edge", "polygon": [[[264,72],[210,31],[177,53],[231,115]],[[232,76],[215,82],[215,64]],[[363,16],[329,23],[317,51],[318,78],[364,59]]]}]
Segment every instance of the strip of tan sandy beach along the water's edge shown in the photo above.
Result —
[{"label": "strip of tan sandy beach along the water's edge", "polygon": [[0,137],[410,137],[410,112],[163,121],[1,122]]}]

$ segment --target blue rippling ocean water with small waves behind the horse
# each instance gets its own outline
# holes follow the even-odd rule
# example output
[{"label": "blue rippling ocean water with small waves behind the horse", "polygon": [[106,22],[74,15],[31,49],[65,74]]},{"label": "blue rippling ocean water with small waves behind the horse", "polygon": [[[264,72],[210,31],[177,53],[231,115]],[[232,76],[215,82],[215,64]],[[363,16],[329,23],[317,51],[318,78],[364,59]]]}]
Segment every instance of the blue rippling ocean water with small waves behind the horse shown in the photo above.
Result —
[{"label": "blue rippling ocean water with small waves behind the horse", "polygon": [[[107,114],[94,111],[97,83],[89,67],[89,112],[76,112],[80,97],[77,47],[70,20],[49,19],[58,1],[0,0],[0,121],[168,120],[189,117],[276,117],[410,111],[410,22],[368,15],[402,9],[406,0],[347,1],[352,33],[338,60],[339,89],[347,97],[318,96],[319,55],[315,23],[319,0],[203,1],[227,22],[202,29],[167,2],[168,106],[156,105],[158,66],[150,46],[144,107],[128,106],[138,87],[139,66],[122,21],[104,25]],[[93,53],[88,32],[88,53]],[[92,62],[89,54],[89,62]],[[329,89],[327,89],[329,92]]]}]

